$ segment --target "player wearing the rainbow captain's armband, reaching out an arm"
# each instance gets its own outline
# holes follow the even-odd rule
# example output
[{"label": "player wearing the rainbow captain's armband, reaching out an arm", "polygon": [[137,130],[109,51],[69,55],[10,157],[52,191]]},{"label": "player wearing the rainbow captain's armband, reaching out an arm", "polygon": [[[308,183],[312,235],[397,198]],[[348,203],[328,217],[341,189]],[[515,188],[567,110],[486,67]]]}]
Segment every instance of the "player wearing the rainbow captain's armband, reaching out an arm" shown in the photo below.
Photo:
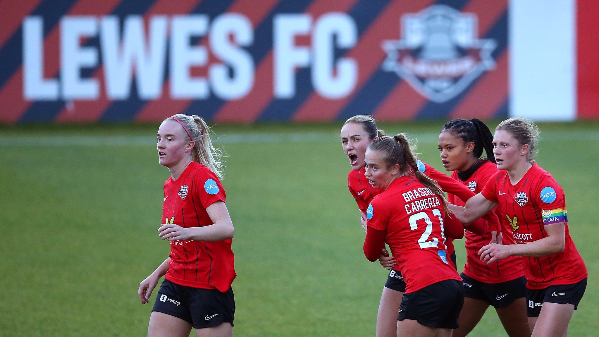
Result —
[{"label": "player wearing the rainbow captain's armband, reaching out an arm", "polygon": [[470,222],[498,206],[509,219],[518,244],[483,246],[480,259],[492,264],[512,256],[525,257],[527,314],[533,337],[567,336],[588,273],[568,233],[564,191],[534,162],[538,136],[539,128],[528,119],[501,122],[493,139],[500,171],[465,208],[452,208],[462,222]]}]

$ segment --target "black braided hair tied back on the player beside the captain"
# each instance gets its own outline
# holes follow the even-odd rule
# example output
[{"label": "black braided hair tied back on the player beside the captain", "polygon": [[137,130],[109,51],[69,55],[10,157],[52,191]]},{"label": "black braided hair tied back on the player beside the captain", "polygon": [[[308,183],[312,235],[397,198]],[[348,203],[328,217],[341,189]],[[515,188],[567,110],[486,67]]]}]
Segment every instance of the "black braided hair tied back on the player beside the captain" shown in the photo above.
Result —
[{"label": "black braided hair tied back on the player beside the captain", "polygon": [[441,132],[447,131],[456,138],[464,140],[465,143],[474,143],[474,157],[477,159],[485,150],[486,158],[495,163],[495,155],[493,154],[493,134],[489,127],[478,118],[461,119],[456,118],[443,125]]}]

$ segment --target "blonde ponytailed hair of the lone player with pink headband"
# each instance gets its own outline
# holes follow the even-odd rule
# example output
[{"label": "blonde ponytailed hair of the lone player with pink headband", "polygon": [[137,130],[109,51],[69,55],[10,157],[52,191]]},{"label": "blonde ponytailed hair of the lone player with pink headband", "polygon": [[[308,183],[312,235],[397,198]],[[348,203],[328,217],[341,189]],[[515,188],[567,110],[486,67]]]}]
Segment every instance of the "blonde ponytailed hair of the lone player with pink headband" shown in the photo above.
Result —
[{"label": "blonde ponytailed hair of the lone player with pink headband", "polygon": [[192,160],[208,167],[219,179],[223,179],[225,164],[222,157],[224,156],[222,151],[212,145],[210,128],[204,119],[196,115],[187,116],[180,113],[169,118],[179,120],[191,140],[195,142],[191,154]]}]

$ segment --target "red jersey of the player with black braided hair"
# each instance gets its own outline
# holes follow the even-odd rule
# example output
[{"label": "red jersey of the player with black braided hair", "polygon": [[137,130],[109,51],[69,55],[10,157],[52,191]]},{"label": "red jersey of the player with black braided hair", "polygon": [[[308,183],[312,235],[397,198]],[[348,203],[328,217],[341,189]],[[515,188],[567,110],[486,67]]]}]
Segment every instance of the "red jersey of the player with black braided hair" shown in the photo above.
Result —
[{"label": "red jersey of the player with black braided hair", "polygon": [[[468,177],[467,180],[462,181],[458,178],[458,171],[453,171],[451,177],[456,181],[463,183],[465,186],[470,188],[474,193],[480,192],[480,189],[485,186],[485,183],[489,178],[497,173],[497,165],[491,163],[491,161],[486,161],[482,166],[480,166],[474,173]],[[448,195],[449,202],[452,204],[456,204],[458,206],[464,206],[464,201],[456,198],[455,195]],[[504,215],[498,213],[498,207],[495,207],[495,213],[500,219],[501,223],[501,231],[504,233],[503,236],[503,244],[504,245],[513,245],[514,239],[512,237],[512,227],[510,227],[507,219],[505,221],[501,221],[501,218],[505,218]],[[486,221],[485,219],[478,219],[477,221]],[[474,234],[471,231],[465,231],[466,236],[466,264],[464,264],[464,274],[476,279],[480,282],[485,283],[501,283],[510,281],[512,279],[516,279],[524,276],[524,261],[522,261],[522,257],[508,257],[503,260],[498,260],[493,263],[486,264],[482,260],[480,260],[478,256],[478,252],[480,248],[488,245],[491,242],[491,232],[488,231],[485,235],[480,236],[478,234]]]}]

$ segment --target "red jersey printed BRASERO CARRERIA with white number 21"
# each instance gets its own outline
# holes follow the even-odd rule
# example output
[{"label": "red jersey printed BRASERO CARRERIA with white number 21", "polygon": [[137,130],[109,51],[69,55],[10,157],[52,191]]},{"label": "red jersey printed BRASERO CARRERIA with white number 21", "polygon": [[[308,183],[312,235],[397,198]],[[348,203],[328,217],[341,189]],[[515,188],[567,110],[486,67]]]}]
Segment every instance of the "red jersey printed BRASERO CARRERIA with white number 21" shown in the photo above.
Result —
[{"label": "red jersey printed BRASERO CARRERIA with white number 21", "polygon": [[368,227],[384,230],[406,293],[446,279],[461,281],[445,245],[443,204],[413,176],[401,176],[373,198]]}]

